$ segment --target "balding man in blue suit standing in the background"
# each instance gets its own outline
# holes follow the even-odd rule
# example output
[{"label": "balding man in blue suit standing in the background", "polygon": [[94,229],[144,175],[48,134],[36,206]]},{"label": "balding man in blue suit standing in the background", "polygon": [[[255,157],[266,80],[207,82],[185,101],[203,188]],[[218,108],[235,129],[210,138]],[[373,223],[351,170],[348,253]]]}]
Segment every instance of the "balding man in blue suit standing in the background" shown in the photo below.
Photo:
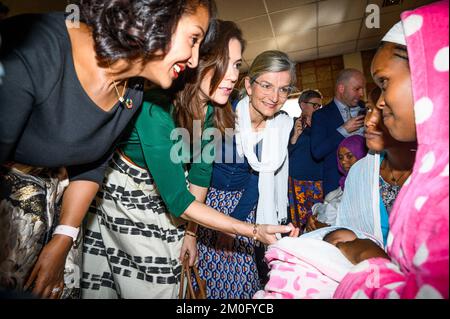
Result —
[{"label": "balding man in blue suit standing in the background", "polygon": [[339,186],[337,148],[341,141],[351,135],[364,134],[365,107],[361,103],[365,88],[364,75],[356,69],[341,71],[333,101],[314,112],[311,125],[311,153],[323,160],[324,195]]}]

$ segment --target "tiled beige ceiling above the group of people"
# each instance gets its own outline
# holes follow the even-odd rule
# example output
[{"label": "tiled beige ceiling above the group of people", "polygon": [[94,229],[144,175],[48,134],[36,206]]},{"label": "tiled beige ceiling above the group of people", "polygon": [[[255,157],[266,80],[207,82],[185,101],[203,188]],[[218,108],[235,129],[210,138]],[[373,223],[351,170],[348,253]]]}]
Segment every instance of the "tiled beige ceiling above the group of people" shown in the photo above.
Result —
[{"label": "tiled beige ceiling above the group of people", "polygon": [[[216,0],[219,17],[235,21],[247,40],[244,66],[265,50],[281,50],[297,62],[373,49],[402,11],[434,2],[403,0]],[[365,25],[366,7],[381,8],[380,28]]]}]

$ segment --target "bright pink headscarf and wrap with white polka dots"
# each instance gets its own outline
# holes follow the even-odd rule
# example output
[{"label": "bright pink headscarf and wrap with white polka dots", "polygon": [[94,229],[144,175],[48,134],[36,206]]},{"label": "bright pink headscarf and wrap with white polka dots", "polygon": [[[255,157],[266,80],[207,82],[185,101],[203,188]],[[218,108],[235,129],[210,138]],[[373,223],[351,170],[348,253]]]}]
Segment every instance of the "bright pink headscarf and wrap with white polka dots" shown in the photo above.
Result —
[{"label": "bright pink headscarf and wrap with white polka dots", "polygon": [[[373,258],[355,266],[335,298],[449,298],[448,9],[448,0],[438,1],[401,15],[414,96],[416,161],[389,219],[391,260]],[[395,38],[398,26],[385,40],[399,43]],[[367,284],[373,282],[367,269],[376,270],[373,285]]]}]

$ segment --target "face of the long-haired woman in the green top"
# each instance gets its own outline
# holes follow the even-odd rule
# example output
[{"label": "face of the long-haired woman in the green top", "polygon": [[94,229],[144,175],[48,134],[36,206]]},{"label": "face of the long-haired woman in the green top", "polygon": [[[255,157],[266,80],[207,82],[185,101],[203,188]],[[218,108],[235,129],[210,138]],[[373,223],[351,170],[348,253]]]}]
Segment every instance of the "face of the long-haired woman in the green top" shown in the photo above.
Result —
[{"label": "face of the long-haired woman in the green top", "polygon": [[228,43],[229,61],[224,78],[220,82],[217,89],[209,94],[211,88],[211,79],[213,77],[213,70],[210,70],[200,85],[201,92],[208,96],[211,101],[219,105],[224,105],[228,102],[233,88],[239,78],[239,68],[242,64],[242,45],[237,39],[231,39]]}]

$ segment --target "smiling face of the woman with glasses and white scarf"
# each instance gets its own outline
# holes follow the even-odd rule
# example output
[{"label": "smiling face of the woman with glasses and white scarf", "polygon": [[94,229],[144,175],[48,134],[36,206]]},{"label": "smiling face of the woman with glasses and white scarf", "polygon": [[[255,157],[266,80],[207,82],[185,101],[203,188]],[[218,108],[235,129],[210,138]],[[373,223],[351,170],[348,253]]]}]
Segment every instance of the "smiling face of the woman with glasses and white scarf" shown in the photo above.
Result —
[{"label": "smiling face of the woman with glasses and white scarf", "polygon": [[264,73],[252,84],[250,84],[250,79],[246,78],[245,88],[250,97],[252,119],[266,119],[274,116],[287,100],[287,95],[280,94],[280,91],[290,90],[290,85],[291,73],[289,71]]}]

